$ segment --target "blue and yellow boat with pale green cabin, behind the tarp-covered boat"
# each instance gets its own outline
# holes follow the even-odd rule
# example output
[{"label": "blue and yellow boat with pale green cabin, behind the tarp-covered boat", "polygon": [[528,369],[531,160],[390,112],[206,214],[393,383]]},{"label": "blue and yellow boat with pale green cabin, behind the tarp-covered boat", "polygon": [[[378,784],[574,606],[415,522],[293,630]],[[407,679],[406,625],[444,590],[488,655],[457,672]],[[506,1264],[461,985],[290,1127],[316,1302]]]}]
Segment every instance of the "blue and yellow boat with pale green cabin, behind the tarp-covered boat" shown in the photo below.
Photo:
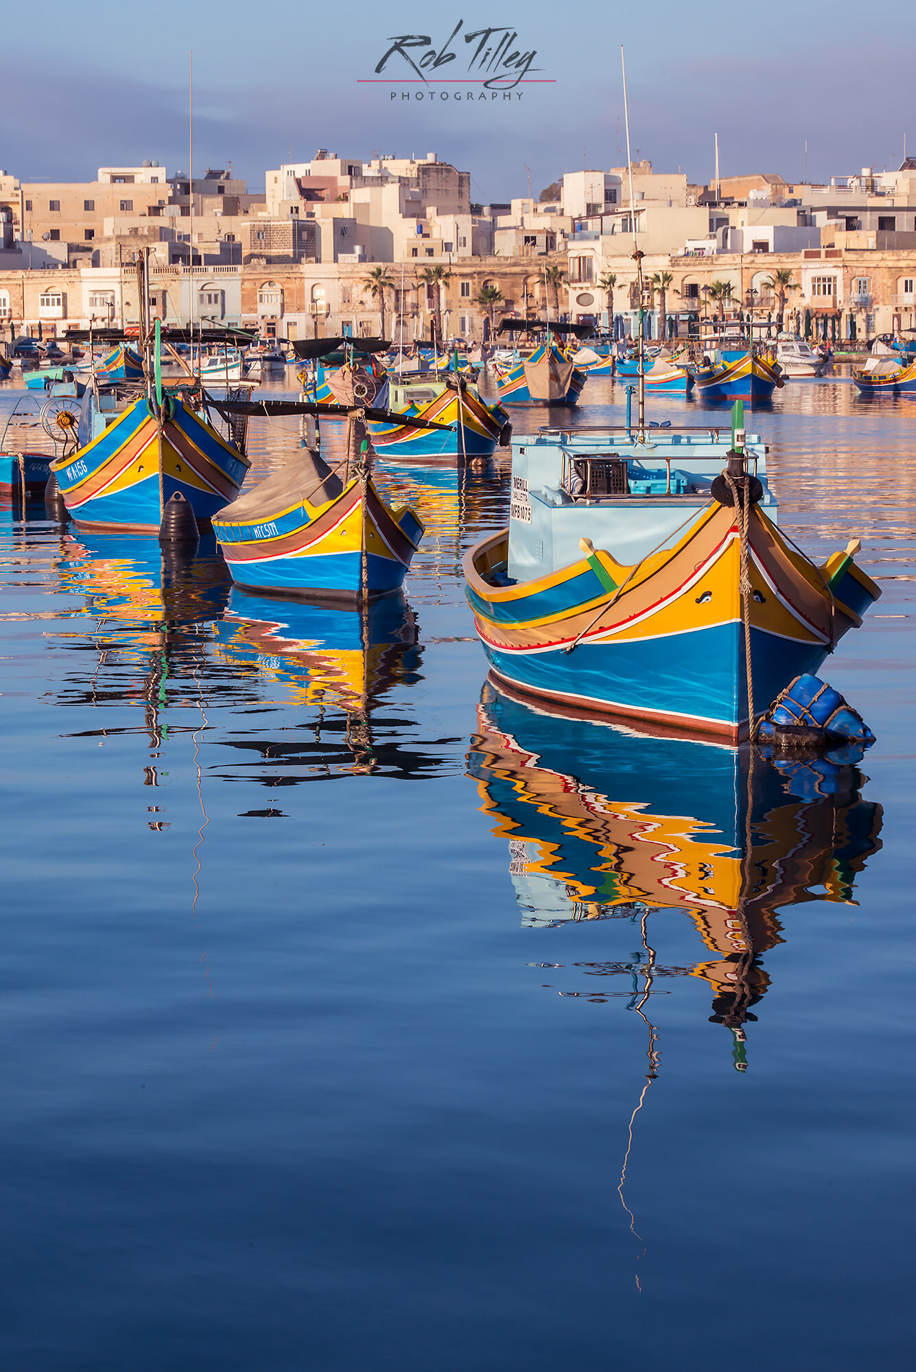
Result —
[{"label": "blue and yellow boat with pale green cabin, behind the tarp-covered boat", "polygon": [[[399,423],[370,423],[372,445],[378,457],[457,458],[459,462],[492,457],[498,443],[509,445],[511,425],[501,405],[488,405],[473,383],[454,370],[388,381],[388,409],[403,414]],[[446,428],[421,428],[424,420]]]}]

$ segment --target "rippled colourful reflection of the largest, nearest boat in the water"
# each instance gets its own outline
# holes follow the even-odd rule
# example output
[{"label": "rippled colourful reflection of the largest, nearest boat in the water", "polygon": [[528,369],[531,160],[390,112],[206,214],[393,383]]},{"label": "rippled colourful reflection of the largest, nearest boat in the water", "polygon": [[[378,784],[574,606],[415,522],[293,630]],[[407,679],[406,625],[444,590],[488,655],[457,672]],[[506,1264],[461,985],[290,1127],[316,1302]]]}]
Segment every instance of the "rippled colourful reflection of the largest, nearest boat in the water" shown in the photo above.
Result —
[{"label": "rippled colourful reflection of the largest, nearest boat in the water", "polygon": [[[705,954],[690,967],[636,955],[579,965],[587,977],[692,975],[712,1015],[736,1036],[769,986],[762,958],[783,941],[780,911],[805,901],[854,904],[853,886],[880,848],[882,808],[842,757],[775,760],[760,749],[647,737],[558,718],[490,682],[477,707],[468,771],[529,926],[638,919],[683,911]],[[606,982],[572,992],[606,999]]]}]

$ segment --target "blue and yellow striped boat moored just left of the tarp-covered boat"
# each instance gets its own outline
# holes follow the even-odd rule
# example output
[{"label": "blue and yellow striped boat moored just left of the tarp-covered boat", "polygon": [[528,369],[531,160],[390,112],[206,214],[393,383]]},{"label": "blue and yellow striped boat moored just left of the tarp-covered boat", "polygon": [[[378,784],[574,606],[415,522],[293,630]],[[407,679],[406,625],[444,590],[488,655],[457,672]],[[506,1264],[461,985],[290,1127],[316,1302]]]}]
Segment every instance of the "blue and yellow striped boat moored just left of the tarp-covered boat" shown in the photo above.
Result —
[{"label": "blue and yellow striped boat moored just left of the tarp-covered boat", "polygon": [[228,427],[224,438],[192,403],[196,395],[193,386],[174,387],[159,407],[130,383],[86,390],[81,446],[51,464],[81,528],[158,534],[176,494],[207,528],[234,499],[250,466],[245,425]]}]

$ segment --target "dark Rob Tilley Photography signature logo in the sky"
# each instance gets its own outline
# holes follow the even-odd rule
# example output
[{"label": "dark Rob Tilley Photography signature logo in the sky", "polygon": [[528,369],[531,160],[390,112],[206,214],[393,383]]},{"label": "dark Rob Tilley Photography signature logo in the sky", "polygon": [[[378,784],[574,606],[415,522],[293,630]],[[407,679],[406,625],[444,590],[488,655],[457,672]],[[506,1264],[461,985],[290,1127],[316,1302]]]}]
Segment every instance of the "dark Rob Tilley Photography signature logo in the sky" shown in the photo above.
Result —
[{"label": "dark Rob Tilley Photography signature logo in the sky", "polygon": [[[535,66],[538,51],[525,49],[511,25],[492,25],[470,33],[462,33],[463,26],[463,19],[459,19],[442,47],[436,47],[426,33],[391,34],[384,40],[385,49],[376,64],[376,75],[361,77],[359,82],[392,86],[391,100],[458,102],[521,100],[521,85],[554,84],[550,77],[529,75],[542,70]],[[455,74],[462,67],[459,59],[466,59],[466,75]]]}]

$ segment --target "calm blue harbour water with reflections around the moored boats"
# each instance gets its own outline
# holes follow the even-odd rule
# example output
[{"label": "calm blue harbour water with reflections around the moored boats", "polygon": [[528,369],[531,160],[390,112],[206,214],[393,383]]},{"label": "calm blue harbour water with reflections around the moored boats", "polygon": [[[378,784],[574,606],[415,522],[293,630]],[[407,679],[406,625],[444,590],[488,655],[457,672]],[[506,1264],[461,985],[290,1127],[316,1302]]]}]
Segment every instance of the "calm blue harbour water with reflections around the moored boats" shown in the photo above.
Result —
[{"label": "calm blue harbour water with reflections around the moored boats", "polygon": [[749,418],[883,598],[824,667],[878,742],[758,760],[743,864],[730,753],[484,686],[505,454],[380,471],[428,534],[367,626],[0,509],[4,1368],[912,1356],[915,427]]}]

